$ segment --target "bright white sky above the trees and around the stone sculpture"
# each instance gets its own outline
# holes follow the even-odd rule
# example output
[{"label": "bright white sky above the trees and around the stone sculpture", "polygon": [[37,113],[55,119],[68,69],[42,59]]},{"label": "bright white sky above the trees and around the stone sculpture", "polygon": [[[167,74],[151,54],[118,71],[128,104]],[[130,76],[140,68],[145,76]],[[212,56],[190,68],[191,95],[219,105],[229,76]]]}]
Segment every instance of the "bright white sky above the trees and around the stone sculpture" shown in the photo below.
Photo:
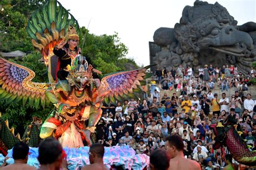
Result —
[{"label": "bright white sky above the trees and around the stone sculpture", "polygon": [[[128,48],[126,57],[139,65],[149,65],[149,41],[160,27],[173,28],[179,22],[186,5],[193,0],[59,0],[78,20],[80,26],[89,24],[95,35],[113,35],[118,32],[121,42]],[[214,4],[216,1],[208,0]],[[238,25],[256,22],[255,0],[220,0]]]}]

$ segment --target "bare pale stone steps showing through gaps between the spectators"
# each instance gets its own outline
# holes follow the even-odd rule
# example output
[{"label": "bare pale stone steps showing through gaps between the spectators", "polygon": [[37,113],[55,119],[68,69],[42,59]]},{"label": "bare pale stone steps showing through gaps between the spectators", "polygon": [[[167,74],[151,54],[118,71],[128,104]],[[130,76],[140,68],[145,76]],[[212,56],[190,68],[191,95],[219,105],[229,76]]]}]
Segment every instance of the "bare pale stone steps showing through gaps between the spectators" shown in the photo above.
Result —
[{"label": "bare pale stone steps showing through gaps between the spectators", "polygon": [[[159,88],[161,89],[161,87],[159,86]],[[231,99],[231,96],[235,93],[235,91],[238,90],[235,87],[232,87],[231,89],[228,89],[228,91],[223,91],[224,93],[226,93],[226,97],[228,99]],[[164,93],[167,94],[167,96],[172,97],[173,93],[176,92],[176,90],[161,90],[160,91],[160,98],[164,96]],[[221,92],[220,87],[217,86],[217,83],[215,83],[215,89],[212,90],[212,93],[217,93],[218,94],[218,98],[221,98],[221,94],[223,93]],[[180,96],[180,92],[176,92],[177,96]],[[248,91],[245,91],[244,94],[246,96],[246,94],[250,93],[252,96],[252,99],[255,100],[256,99],[256,86],[249,86],[248,87]],[[181,112],[181,107],[178,107],[178,113]],[[210,112],[212,112],[212,106],[210,106]]]}]

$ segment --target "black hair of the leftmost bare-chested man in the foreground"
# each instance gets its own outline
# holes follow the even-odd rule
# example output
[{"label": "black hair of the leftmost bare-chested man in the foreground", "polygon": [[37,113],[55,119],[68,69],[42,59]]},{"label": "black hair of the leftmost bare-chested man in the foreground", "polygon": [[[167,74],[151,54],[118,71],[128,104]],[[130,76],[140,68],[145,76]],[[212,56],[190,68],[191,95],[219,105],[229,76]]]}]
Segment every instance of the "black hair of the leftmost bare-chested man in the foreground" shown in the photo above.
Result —
[{"label": "black hair of the leftmost bare-chested man in the foreground", "polygon": [[23,142],[17,142],[12,149],[12,158],[16,159],[25,159],[29,153],[29,146]]}]

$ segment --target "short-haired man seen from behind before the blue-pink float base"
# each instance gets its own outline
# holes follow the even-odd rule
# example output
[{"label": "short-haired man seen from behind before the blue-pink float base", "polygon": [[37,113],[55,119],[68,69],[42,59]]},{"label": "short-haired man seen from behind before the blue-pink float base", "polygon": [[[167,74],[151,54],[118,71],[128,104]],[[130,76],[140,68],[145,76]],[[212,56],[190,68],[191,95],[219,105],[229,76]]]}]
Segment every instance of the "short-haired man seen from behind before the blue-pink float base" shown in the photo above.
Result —
[{"label": "short-haired man seen from behind before the blue-pink float base", "polygon": [[86,165],[82,170],[105,170],[103,164],[104,146],[100,143],[93,144],[89,149],[89,159],[91,165]]}]

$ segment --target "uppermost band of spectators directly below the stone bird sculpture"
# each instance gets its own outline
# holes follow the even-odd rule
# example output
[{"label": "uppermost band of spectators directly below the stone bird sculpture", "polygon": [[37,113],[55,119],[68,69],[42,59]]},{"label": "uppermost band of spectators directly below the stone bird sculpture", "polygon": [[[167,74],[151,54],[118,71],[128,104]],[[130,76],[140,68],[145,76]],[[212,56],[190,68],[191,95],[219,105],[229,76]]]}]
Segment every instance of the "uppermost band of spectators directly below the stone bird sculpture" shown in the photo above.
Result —
[{"label": "uppermost band of spectators directly below the stone bird sculpture", "polygon": [[[238,72],[237,67],[224,65],[222,68],[205,65],[195,71],[191,67],[184,69],[179,65],[177,69],[167,71],[158,69],[154,73],[157,84],[161,84],[164,90],[176,89],[177,92],[183,91],[188,95],[199,93],[202,90],[213,90],[215,83],[221,91],[235,87],[239,91],[247,91],[248,86],[252,85],[250,79],[255,77],[255,70],[251,67],[250,73],[244,75]],[[197,76],[196,76],[197,75]]]}]

